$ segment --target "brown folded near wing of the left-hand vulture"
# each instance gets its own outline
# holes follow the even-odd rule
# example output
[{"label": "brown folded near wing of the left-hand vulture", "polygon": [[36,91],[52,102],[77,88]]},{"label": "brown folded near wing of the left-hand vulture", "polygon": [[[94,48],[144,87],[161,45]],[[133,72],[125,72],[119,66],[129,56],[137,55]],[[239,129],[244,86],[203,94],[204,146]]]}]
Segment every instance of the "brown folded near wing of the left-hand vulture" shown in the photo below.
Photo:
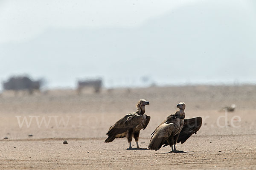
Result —
[{"label": "brown folded near wing of the left-hand vulture", "polygon": [[142,122],[143,117],[137,113],[130,113],[123,116],[119,121],[117,121],[113,126],[109,127],[108,138],[105,142],[112,142],[116,138],[125,137],[127,130],[135,128],[138,124]]}]

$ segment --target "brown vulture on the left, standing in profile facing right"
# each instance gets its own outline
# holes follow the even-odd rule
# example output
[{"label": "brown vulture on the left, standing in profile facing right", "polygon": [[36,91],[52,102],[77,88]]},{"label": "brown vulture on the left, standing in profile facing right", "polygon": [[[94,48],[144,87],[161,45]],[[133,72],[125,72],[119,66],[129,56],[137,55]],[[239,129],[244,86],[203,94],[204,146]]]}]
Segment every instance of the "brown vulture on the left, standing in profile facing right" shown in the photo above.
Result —
[{"label": "brown vulture on the left, standing in profile facing right", "polygon": [[139,149],[139,135],[140,130],[145,129],[150,121],[150,116],[144,114],[145,113],[145,105],[149,105],[149,102],[145,99],[140,99],[137,103],[137,112],[129,113],[119,119],[113,126],[109,127],[108,130],[108,138],[105,140],[105,143],[112,142],[116,138],[124,138],[128,139],[130,144],[128,149],[132,149],[131,141],[132,137],[134,137],[135,142],[137,144],[137,149]]}]

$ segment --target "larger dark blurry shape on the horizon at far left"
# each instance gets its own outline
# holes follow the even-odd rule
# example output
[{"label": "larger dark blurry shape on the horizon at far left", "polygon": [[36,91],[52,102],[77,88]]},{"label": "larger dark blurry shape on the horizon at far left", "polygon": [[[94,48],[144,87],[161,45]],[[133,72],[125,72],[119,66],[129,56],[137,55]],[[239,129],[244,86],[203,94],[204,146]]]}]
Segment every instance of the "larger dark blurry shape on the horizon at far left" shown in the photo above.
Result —
[{"label": "larger dark blurry shape on the horizon at far left", "polygon": [[21,90],[29,91],[29,94],[33,94],[33,91],[40,91],[42,81],[33,81],[26,76],[12,76],[6,82],[3,82],[4,90],[13,90],[15,92]]}]

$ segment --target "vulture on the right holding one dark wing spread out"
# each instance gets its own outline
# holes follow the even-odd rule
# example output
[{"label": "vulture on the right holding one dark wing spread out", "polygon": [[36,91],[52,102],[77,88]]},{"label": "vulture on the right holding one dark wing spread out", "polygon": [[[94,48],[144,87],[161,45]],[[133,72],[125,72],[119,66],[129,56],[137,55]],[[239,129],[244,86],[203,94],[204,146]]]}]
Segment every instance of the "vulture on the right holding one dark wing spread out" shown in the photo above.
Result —
[{"label": "vulture on the right holding one dark wing spread out", "polygon": [[168,145],[172,147],[171,152],[183,152],[182,150],[176,150],[175,144],[179,142],[183,144],[200,129],[202,125],[201,117],[185,119],[184,110],[186,105],[184,102],[180,102],[177,108],[176,113],[169,115],[151,134],[152,137],[148,144],[149,149],[158,150],[164,144],[163,147]]}]

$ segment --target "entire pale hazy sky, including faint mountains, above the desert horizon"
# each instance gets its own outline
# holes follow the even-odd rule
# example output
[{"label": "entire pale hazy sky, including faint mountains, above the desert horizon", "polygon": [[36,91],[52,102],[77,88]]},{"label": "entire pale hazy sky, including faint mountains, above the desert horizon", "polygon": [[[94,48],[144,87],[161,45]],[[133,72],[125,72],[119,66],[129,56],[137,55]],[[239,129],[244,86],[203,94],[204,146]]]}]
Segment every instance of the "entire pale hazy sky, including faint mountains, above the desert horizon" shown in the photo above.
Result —
[{"label": "entire pale hazy sky, including faint mountains, above the desert horizon", "polygon": [[253,0],[0,0],[0,80],[256,83]]}]

